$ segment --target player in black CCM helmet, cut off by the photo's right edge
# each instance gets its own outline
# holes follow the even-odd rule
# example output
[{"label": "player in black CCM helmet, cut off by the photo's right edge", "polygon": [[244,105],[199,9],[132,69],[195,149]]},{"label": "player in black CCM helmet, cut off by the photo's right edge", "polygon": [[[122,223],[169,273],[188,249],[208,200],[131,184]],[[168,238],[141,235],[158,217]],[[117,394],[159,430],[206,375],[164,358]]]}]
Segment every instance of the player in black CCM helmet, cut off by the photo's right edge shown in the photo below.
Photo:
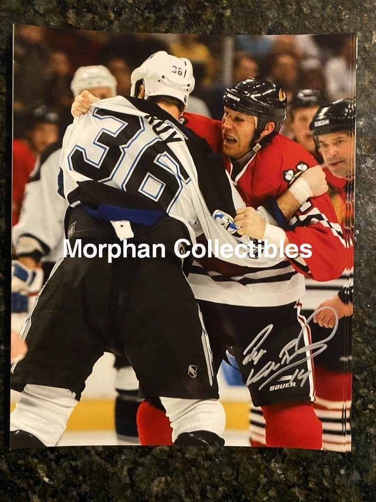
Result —
[{"label": "player in black CCM helmet, cut off by the photo's right edge", "polygon": [[[319,153],[325,162],[332,196],[342,201],[342,227],[346,241],[353,240],[353,189],[355,175],[355,100],[341,99],[321,106],[311,122],[311,131]],[[348,269],[352,267],[348,255]],[[350,451],[351,408],[351,327],[352,278],[346,272],[346,286],[317,307],[313,320],[312,339],[327,333],[335,323],[337,332],[328,349],[315,361],[316,413],[323,423],[323,447],[328,450]],[[325,308],[325,307],[331,307]],[[321,327],[321,329],[319,328]]]}]

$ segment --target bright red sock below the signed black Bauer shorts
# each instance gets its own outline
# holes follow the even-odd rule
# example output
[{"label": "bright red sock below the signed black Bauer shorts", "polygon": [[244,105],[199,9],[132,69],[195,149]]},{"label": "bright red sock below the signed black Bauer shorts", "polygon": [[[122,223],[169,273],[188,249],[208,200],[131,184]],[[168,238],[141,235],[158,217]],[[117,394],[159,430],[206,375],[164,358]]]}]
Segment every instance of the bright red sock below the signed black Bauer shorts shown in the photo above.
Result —
[{"label": "bright red sock below the signed black Bauer shorts", "polygon": [[266,446],[320,450],[322,426],[310,402],[262,406]]}]

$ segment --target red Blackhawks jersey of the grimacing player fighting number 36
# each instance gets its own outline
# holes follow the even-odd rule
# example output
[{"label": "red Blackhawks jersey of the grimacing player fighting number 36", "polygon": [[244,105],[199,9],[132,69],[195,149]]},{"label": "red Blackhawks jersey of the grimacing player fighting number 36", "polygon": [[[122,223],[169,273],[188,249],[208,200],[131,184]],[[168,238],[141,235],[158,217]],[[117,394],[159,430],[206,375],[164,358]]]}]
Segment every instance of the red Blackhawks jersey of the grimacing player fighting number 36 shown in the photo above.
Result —
[{"label": "red Blackhawks jersey of the grimacing player fighting number 36", "polygon": [[[204,136],[217,152],[222,145],[221,122],[185,114],[185,127]],[[220,140],[219,140],[220,139]],[[216,143],[217,141],[217,143]],[[267,207],[291,243],[310,244],[311,258],[287,259],[270,268],[238,267],[219,259],[195,261],[189,282],[198,299],[244,306],[277,306],[304,295],[304,276],[318,281],[338,278],[348,264],[348,243],[327,194],[309,199],[287,222],[275,200],[305,169],[317,161],[300,145],[277,134],[236,169],[223,154],[233,183],[247,206]],[[215,180],[213,180],[215,182]]]}]

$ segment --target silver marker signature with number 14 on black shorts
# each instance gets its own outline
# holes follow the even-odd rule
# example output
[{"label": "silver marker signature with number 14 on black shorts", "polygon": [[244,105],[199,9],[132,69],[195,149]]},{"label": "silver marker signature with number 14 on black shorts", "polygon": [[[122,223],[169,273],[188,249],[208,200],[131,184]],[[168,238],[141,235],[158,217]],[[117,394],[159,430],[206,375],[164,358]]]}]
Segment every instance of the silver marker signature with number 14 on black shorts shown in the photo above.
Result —
[{"label": "silver marker signature with number 14 on black shorts", "polygon": [[[314,315],[316,315],[323,309],[330,309],[334,312],[335,324],[332,332],[330,333],[329,336],[327,336],[321,341],[310,343],[308,345],[304,345],[301,348],[298,348],[300,339],[303,336],[304,330],[308,326],[309,321],[313,318]],[[302,326],[299,336],[286,343],[286,345],[282,348],[282,350],[279,353],[280,360],[277,362],[268,361],[256,374],[254,374],[255,369],[252,368],[248,376],[246,385],[253,384],[269,376],[269,378],[259,387],[260,390],[264,386],[266,386],[271,380],[273,380],[278,374],[286,371],[289,368],[297,366],[304,361],[308,361],[309,359],[312,359],[316,355],[320,354],[327,348],[326,342],[329,341],[331,338],[333,338],[335,332],[337,331],[337,327],[338,327],[338,315],[337,312],[332,307],[321,307],[317,309],[315,312],[313,312],[313,314],[311,314],[308,317],[308,319]],[[243,352],[243,355],[245,355],[243,359],[244,365],[248,364],[249,362],[253,362],[253,364],[256,365],[260,361],[260,359],[267,353],[267,351],[261,348],[261,346],[269,336],[272,329],[273,329],[273,324],[269,324],[268,326],[266,326],[262,331],[260,331],[260,333],[252,340],[252,342],[244,350]],[[249,350],[251,350],[251,352],[249,352]],[[290,350],[293,350],[293,352],[290,353]],[[306,353],[307,351],[311,351],[309,356],[304,357],[303,359],[299,359],[298,361],[294,361],[290,364],[290,361],[292,361],[296,356],[298,356],[299,354]],[[292,383],[295,379],[297,379],[301,381],[300,386],[303,387],[311,372],[312,371],[310,369],[308,371],[305,371],[304,369],[300,370],[296,369],[294,374],[291,376],[291,379],[289,379],[289,383]],[[271,373],[273,374],[270,376]]]}]

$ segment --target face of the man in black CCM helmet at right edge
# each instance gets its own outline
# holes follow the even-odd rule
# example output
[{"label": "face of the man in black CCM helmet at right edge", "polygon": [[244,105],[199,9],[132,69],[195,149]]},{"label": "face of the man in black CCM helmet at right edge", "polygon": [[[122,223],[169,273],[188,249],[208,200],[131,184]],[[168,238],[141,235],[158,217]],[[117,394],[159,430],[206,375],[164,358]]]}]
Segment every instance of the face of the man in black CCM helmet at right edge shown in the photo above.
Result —
[{"label": "face of the man in black CCM helmet at right edge", "polygon": [[338,178],[350,178],[355,170],[355,142],[352,134],[329,133],[318,137],[324,163]]}]

